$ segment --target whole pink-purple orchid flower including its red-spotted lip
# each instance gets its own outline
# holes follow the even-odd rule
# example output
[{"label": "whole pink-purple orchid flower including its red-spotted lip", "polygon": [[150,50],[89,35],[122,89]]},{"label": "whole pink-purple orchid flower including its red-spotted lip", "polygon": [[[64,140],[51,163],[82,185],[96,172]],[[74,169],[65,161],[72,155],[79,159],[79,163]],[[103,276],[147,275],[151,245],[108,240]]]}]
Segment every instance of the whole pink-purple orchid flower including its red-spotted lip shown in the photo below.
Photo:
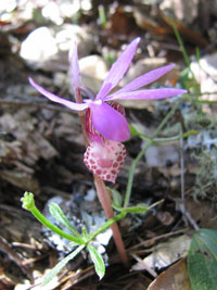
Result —
[{"label": "whole pink-purple orchid flower including its red-spotted lip", "polygon": [[[86,131],[90,141],[90,146],[85,153],[85,164],[101,179],[113,182],[115,181],[126,156],[126,150],[122,142],[129,139],[130,136],[124,109],[114,103],[114,100],[165,99],[187,92],[183,89],[176,88],[138,90],[139,88],[153,83],[173,70],[175,64],[170,64],[141,75],[131,80],[122,89],[108,94],[111,90],[118,85],[119,80],[129,68],[139,41],[140,38],[136,38],[129,43],[126,50],[112,65],[95,98],[85,99],[84,103],[76,103],[62,99],[43,89],[31,78],[29,78],[30,85],[49,100],[61,103],[71,110],[87,110]],[[73,43],[71,65],[74,92],[75,96],[79,96],[82,85],[80,79],[76,42]]]}]

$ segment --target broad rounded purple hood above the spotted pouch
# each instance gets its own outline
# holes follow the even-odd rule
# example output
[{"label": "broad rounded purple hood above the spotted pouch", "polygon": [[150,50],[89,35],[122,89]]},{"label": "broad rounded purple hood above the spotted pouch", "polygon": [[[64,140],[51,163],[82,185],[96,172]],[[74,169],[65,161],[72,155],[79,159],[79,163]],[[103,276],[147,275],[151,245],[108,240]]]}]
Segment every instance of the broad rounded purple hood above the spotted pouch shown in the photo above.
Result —
[{"label": "broad rounded purple hood above the spotted pouch", "polygon": [[102,136],[117,142],[129,139],[129,126],[122,113],[104,102],[92,102],[89,106],[92,112],[93,126]]}]

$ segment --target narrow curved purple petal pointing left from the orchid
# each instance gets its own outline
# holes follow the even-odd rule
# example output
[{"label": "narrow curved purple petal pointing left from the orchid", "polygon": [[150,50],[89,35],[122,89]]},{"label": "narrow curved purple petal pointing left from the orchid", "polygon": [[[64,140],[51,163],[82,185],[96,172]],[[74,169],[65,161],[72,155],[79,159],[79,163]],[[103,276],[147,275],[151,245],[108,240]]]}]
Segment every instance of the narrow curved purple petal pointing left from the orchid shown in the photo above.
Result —
[{"label": "narrow curved purple petal pointing left from the orchid", "polygon": [[67,108],[69,108],[71,110],[75,110],[75,111],[82,111],[85,109],[88,108],[88,104],[87,103],[74,103],[74,102],[71,102],[71,101],[67,101],[67,100],[64,100],[55,94],[53,94],[52,92],[43,89],[42,87],[40,87],[39,85],[37,85],[33,78],[28,78],[30,85],[37,89],[41,94],[43,94],[46,98],[48,98],[49,100],[53,101],[53,102],[56,102],[56,103],[61,103]]}]

